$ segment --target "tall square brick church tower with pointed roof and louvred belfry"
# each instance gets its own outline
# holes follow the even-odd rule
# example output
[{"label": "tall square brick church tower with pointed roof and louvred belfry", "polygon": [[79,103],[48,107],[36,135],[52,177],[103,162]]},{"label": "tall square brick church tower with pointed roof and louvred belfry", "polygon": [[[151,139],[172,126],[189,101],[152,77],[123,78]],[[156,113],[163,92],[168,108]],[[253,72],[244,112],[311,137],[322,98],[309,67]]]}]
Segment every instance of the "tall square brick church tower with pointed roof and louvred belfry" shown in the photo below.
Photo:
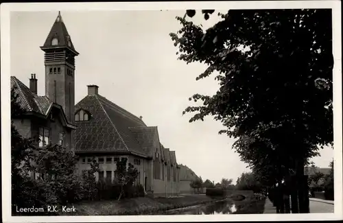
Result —
[{"label": "tall square brick church tower with pointed roof and louvred belfry", "polygon": [[58,16],[43,47],[45,52],[45,95],[60,104],[69,123],[74,124],[75,112],[75,50],[67,28]]}]

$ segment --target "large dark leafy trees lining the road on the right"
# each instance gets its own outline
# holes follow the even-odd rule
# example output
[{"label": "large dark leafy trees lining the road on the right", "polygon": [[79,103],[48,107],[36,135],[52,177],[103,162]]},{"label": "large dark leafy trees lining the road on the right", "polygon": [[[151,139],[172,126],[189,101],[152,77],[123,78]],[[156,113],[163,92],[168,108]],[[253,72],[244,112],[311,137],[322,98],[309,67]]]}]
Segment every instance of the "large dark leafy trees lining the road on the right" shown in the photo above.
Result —
[{"label": "large dark leafy trees lining the road on the right", "polygon": [[[208,19],[214,10],[202,10]],[[229,10],[208,30],[177,17],[171,33],[178,59],[215,75],[215,95],[196,93],[189,120],[213,116],[236,140],[233,148],[268,187],[290,179],[296,188],[292,213],[306,213],[304,167],[320,147],[333,143],[331,10]],[[244,49],[244,50],[242,50]],[[294,199],[293,199],[294,200]]]}]

